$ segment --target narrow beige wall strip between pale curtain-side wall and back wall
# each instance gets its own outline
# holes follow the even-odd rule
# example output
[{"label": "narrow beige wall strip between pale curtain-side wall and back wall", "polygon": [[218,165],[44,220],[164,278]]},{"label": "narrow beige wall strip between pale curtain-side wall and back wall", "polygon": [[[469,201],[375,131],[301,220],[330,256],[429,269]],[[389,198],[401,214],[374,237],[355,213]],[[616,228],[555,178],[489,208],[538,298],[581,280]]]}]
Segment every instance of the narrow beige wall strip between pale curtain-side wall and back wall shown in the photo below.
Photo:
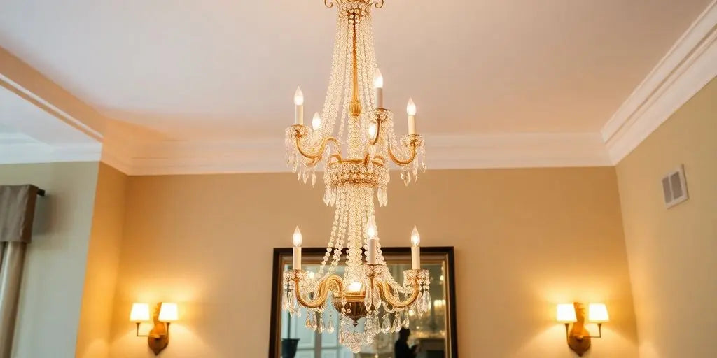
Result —
[{"label": "narrow beige wall strip between pale curtain-side wall and back wall", "polygon": [[92,217],[77,358],[107,358],[125,219],[127,175],[100,163]]}]

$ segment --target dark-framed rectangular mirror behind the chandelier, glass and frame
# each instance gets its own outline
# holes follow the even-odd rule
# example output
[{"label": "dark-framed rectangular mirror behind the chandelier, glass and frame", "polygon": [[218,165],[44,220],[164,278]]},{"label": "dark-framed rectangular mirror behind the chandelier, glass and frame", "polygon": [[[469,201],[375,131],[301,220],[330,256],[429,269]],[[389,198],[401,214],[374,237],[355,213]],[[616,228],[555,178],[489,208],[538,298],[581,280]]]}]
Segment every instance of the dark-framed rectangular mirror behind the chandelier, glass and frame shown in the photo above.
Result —
[{"label": "dark-framed rectangular mirror behind the chandelier, glass and frame", "polygon": [[[395,279],[411,269],[410,248],[381,248],[389,271]],[[326,248],[303,248],[303,269],[316,271]],[[379,334],[374,343],[353,353],[338,342],[338,329],[313,331],[305,326],[305,310],[291,317],[281,309],[282,274],[291,269],[292,249],[275,248],[272,276],[269,358],[394,358],[394,344],[399,333]],[[422,315],[409,311],[408,345],[417,358],[457,358],[455,314],[455,269],[452,247],[422,247],[421,268],[429,270],[432,302]],[[337,267],[343,274],[343,262]],[[329,305],[331,308],[331,305]],[[329,322],[328,320],[333,320]],[[329,314],[324,323],[338,327],[338,314]],[[330,331],[332,331],[330,333]],[[292,354],[293,353],[293,354]]]}]

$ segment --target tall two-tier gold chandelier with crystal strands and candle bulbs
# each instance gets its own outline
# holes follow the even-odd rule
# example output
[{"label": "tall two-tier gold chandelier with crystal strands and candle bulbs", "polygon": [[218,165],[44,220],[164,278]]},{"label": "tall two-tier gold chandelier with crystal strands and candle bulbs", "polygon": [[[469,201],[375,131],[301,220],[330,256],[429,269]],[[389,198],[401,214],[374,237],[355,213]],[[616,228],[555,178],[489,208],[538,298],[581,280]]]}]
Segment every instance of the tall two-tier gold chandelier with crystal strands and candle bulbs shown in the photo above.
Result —
[{"label": "tall two-tier gold chandelier with crystal strands and candle bulbs", "polygon": [[[316,272],[301,269],[301,232],[293,236],[293,270],[282,281],[282,308],[300,316],[306,327],[333,333],[352,352],[374,342],[379,333],[409,325],[409,310],[430,309],[429,274],[420,269],[419,234],[412,232],[412,269],[398,283],[386,266],[374,215],[388,203],[389,160],[401,168],[405,185],[424,173],[424,141],[416,134],[416,106],[407,105],[409,133],[394,133],[393,114],[383,104],[383,78],[376,67],[371,9],[384,1],[325,0],[336,4],[338,21],[326,101],[311,127],[304,125],[303,94],[296,90],[294,125],[286,129],[286,163],[299,180],[316,183],[323,167],[326,205],[336,208],[331,236]],[[336,273],[346,248],[343,277]],[[366,263],[364,263],[364,252]],[[328,267],[327,267],[328,266]],[[329,304],[333,309],[328,308]],[[328,309],[327,309],[328,308]],[[335,311],[334,311],[335,309]],[[333,314],[339,325],[334,326]],[[325,321],[325,317],[328,319]]]}]

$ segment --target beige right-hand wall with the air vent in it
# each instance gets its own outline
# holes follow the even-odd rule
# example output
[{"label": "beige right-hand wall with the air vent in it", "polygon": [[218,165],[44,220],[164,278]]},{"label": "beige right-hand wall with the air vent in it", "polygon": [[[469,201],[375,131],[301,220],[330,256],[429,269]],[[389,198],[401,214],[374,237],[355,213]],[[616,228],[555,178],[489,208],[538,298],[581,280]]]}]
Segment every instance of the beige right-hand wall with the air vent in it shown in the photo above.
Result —
[{"label": "beige right-hand wall with the air vent in it", "polygon": [[[685,165],[690,199],[660,179]],[[640,357],[717,351],[717,79],[617,165]]]}]

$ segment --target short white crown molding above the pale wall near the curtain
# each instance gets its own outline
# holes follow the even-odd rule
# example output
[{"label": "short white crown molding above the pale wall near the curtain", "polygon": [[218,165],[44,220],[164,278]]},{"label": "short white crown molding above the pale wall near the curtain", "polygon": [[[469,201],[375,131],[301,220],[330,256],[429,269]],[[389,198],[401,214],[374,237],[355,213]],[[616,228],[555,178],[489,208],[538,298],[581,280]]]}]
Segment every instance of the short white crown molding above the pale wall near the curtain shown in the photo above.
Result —
[{"label": "short white crown molding above the pale wall near the curtain", "polygon": [[67,145],[24,142],[0,145],[0,164],[96,162],[101,152],[99,142]]}]

